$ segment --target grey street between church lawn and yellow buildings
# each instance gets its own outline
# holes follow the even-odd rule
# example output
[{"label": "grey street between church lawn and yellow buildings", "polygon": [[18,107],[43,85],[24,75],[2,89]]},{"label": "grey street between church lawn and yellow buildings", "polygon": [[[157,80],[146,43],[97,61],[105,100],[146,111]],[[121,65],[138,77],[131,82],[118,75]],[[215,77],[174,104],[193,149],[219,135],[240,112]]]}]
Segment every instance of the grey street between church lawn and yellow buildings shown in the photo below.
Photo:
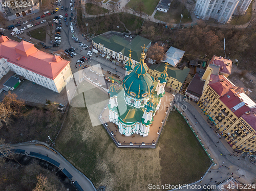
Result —
[{"label": "grey street between church lawn and yellow buildings", "polygon": [[[201,112],[202,110],[200,110],[195,102],[183,102],[182,99],[182,95],[176,94],[176,104],[180,106],[185,105],[187,107],[187,109],[183,109],[182,114],[184,114],[186,118],[188,118],[189,123],[195,127],[197,134],[201,136],[202,141],[205,143],[205,147],[208,147],[210,153],[214,155],[211,155],[211,157],[214,158],[214,161],[217,163],[216,166],[210,169],[211,173],[208,173],[200,184],[205,185],[209,183],[210,185],[215,185],[231,177],[231,173],[233,173],[233,178],[236,178],[242,183],[251,184],[254,182],[256,165],[251,164],[245,154],[233,153],[233,149],[227,144],[227,141],[223,137],[221,139],[218,138],[215,131],[209,128],[209,124],[206,122],[208,117]],[[230,154],[231,156],[229,156]],[[238,155],[238,157],[234,155]],[[227,168],[225,166],[227,166]],[[210,182],[210,178],[212,178],[212,182]],[[217,181],[217,183],[215,183],[215,181]],[[182,190],[191,189],[183,188]]]}]

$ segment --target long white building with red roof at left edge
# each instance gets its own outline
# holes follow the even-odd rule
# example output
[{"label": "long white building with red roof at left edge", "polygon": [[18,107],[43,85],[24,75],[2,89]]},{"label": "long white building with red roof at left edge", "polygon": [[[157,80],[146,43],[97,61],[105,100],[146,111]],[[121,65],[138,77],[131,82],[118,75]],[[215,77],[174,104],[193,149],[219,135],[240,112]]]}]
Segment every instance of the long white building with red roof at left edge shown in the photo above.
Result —
[{"label": "long white building with red roof at left edge", "polygon": [[[60,92],[72,79],[70,61],[39,51],[34,44],[0,37],[0,63],[26,79]],[[1,73],[0,73],[1,74]]]}]

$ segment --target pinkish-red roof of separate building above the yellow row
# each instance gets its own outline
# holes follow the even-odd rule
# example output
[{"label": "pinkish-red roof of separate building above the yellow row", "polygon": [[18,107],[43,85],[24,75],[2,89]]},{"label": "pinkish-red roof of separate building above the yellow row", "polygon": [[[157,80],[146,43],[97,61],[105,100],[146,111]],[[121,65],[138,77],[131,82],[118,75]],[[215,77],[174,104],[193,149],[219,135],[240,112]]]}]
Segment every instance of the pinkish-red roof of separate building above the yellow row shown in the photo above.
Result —
[{"label": "pinkish-red roof of separate building above the yellow row", "polygon": [[225,59],[223,57],[213,56],[209,62],[209,64],[214,64],[216,66],[220,66],[220,72],[231,74],[232,61]]}]

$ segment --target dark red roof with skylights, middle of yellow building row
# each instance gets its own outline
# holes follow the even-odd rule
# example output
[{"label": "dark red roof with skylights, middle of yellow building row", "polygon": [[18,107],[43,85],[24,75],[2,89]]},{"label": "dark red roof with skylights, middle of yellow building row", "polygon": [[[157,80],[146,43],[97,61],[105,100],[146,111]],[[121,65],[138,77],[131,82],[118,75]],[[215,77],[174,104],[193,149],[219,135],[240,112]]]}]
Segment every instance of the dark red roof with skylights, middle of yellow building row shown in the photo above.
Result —
[{"label": "dark red roof with skylights, middle of yellow building row", "polygon": [[[226,105],[228,109],[230,109],[237,117],[242,116],[246,111],[249,111],[250,108],[246,105],[241,105],[241,107],[238,107],[236,109],[235,106],[238,104],[242,103],[243,101],[240,100],[239,97],[236,96],[236,91],[233,89],[229,89],[227,93],[220,97],[220,100],[222,101],[223,104]],[[235,108],[234,108],[235,107]]]}]

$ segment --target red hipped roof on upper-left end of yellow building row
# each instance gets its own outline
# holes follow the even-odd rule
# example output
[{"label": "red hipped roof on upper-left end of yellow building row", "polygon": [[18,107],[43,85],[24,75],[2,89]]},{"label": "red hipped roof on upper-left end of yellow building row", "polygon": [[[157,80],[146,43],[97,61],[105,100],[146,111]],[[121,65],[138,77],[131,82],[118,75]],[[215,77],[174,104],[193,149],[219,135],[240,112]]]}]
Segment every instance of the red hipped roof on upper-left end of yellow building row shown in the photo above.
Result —
[{"label": "red hipped roof on upper-left end of yellow building row", "polygon": [[218,95],[221,97],[225,93],[228,92],[229,89],[232,89],[234,85],[227,80],[224,76],[222,75],[210,75],[210,82],[208,84],[212,89],[218,93]]}]

